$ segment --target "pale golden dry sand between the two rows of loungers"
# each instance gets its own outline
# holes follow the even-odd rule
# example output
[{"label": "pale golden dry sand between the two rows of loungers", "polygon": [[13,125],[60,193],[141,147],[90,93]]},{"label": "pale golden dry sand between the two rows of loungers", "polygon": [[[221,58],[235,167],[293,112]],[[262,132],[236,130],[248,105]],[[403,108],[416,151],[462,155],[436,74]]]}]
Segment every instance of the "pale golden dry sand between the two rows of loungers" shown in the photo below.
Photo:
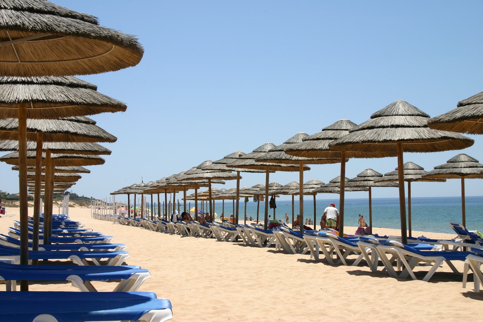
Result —
[{"label": "pale golden dry sand between the two rows of loungers", "polygon": [[[89,209],[69,210],[71,219],[128,245],[127,263],[141,265],[152,275],[139,291],[169,298],[173,321],[427,322],[470,321],[481,315],[483,292],[473,292],[472,282],[463,289],[462,275],[450,273],[445,264],[430,282],[395,279],[372,273],[364,264],[330,266],[310,255],[156,233],[92,219]],[[13,220],[18,220],[18,208],[7,209],[0,231],[6,232]],[[397,230],[384,228],[375,233],[398,235]],[[413,236],[421,234],[453,237],[426,232]],[[462,271],[462,264],[457,267]],[[99,291],[114,288],[113,283],[95,285]],[[77,289],[67,283],[31,283],[30,290]]]}]

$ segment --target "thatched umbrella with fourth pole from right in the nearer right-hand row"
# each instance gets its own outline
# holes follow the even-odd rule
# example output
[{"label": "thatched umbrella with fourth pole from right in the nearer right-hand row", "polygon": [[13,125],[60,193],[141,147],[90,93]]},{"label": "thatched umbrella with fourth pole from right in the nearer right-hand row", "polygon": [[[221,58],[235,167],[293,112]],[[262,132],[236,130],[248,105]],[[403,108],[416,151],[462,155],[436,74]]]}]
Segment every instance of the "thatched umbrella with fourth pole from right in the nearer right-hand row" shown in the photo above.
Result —
[{"label": "thatched umbrella with fourth pole from right in the nearer right-hand row", "polygon": [[[269,197],[269,177],[270,171],[298,171],[300,167],[295,167],[291,164],[284,164],[284,163],[270,163],[270,162],[257,162],[256,159],[263,158],[264,155],[269,153],[269,151],[275,148],[275,144],[273,143],[265,143],[255,150],[252,153],[242,155],[237,160],[230,161],[227,164],[228,168],[233,169],[256,169],[256,170],[265,170],[265,196],[268,199]],[[310,170],[309,167],[305,167],[302,165],[303,170]],[[269,216],[269,201],[265,200],[265,224],[264,228],[267,229],[267,221]]]}]

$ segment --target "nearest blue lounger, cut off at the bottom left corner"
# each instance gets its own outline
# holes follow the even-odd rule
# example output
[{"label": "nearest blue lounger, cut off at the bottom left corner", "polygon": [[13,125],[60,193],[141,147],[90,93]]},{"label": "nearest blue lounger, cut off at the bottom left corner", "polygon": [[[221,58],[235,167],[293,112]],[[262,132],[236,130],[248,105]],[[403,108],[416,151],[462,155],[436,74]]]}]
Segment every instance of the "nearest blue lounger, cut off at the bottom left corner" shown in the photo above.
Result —
[{"label": "nearest blue lounger, cut off at the bottom left corner", "polygon": [[3,321],[87,322],[172,319],[171,302],[152,292],[0,292]]}]

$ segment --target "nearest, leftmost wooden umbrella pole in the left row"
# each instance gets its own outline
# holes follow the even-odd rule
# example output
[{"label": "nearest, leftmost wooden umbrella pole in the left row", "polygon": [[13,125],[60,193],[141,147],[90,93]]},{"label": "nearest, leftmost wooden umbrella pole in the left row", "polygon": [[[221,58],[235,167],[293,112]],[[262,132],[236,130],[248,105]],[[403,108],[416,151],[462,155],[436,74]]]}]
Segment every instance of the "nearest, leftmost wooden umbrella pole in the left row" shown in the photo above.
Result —
[{"label": "nearest, leftmost wooden umbrella pole in the left row", "polygon": [[[28,265],[27,199],[27,103],[18,104],[18,165],[20,199],[20,264]],[[28,291],[28,281],[20,281],[20,290]]]}]

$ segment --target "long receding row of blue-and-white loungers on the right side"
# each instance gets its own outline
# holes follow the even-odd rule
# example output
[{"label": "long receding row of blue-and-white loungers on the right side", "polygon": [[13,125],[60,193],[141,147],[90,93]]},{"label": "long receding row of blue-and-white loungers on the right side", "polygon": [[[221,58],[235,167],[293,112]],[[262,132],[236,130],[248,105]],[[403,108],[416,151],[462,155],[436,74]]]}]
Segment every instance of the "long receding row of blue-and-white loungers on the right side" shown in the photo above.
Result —
[{"label": "long receding row of blue-and-white loungers on the right side", "polygon": [[[113,220],[111,216],[97,216],[98,219]],[[443,262],[453,272],[459,273],[452,262],[460,261],[464,263],[463,287],[466,287],[469,270],[474,273],[475,292],[479,292],[480,284],[483,285],[483,238],[457,223],[450,223],[457,235],[453,239],[408,238],[410,243],[404,245],[400,243],[401,238],[398,236],[341,238],[333,230],[304,231],[300,234],[298,230],[293,230],[283,222],[280,222],[282,225],[279,227],[264,230],[260,225],[234,225],[227,221],[204,225],[197,221],[171,223],[162,218],[152,221],[144,218],[115,217],[115,220],[119,224],[183,237],[216,238],[225,242],[239,238],[249,246],[275,247],[290,254],[310,253],[314,260],[325,260],[330,265],[356,266],[365,261],[371,271],[387,273],[396,278],[416,280],[420,277],[421,280],[428,281]],[[469,251],[463,251],[466,248],[469,248]]]}]

